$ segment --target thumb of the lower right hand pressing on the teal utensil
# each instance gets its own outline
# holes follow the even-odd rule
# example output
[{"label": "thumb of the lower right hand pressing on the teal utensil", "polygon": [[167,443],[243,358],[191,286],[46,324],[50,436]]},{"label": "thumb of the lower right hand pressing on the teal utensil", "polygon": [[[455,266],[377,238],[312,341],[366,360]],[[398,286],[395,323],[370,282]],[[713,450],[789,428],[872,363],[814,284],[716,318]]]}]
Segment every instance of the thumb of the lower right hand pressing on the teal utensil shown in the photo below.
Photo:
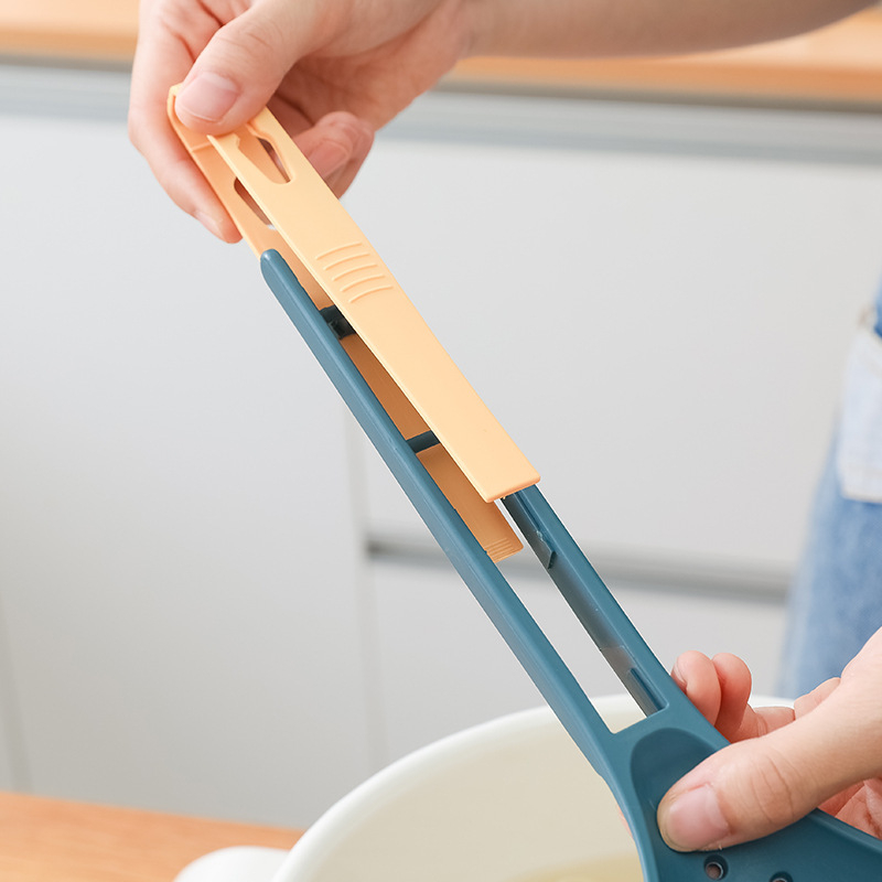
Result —
[{"label": "thumb of the lower right hand pressing on the teal utensil", "polygon": [[685,775],[658,806],[665,841],[692,851],[767,836],[879,774],[879,711],[868,713],[865,696],[846,692],[837,689],[808,714],[731,744]]}]

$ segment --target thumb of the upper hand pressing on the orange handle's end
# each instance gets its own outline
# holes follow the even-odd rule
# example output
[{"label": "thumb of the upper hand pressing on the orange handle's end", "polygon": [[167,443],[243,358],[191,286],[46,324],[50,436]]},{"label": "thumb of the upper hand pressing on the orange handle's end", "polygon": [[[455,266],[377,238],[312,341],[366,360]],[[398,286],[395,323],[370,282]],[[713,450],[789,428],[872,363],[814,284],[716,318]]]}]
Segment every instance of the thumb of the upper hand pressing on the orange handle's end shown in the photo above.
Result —
[{"label": "thumb of the upper hand pressing on the orange handle's end", "polygon": [[310,43],[311,22],[298,14],[309,6],[265,0],[220,28],[175,99],[181,121],[220,135],[251,119]]}]

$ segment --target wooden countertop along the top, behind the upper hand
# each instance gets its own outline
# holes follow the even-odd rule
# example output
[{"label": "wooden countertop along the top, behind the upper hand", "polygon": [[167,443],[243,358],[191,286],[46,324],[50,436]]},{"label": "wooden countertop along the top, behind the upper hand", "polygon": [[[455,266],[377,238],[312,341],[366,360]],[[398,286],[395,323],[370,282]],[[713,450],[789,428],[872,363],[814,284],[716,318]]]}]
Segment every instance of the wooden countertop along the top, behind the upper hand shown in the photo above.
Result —
[{"label": "wooden countertop along the top, behind the upper hand", "polygon": [[[0,2],[0,55],[128,63],[137,0]],[[665,95],[882,106],[882,10],[811,34],[678,60],[474,58],[461,88]]]}]

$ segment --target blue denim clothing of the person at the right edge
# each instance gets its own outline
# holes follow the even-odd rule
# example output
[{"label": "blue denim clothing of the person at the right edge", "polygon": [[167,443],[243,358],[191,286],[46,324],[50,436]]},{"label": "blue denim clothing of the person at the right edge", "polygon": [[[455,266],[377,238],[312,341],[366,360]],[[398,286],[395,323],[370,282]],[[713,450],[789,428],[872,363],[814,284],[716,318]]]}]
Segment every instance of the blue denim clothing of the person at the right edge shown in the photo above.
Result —
[{"label": "blue denim clothing of the person at the right edge", "polygon": [[794,580],[779,688],[795,698],[837,677],[882,627],[882,290],[856,340],[840,426]]}]

